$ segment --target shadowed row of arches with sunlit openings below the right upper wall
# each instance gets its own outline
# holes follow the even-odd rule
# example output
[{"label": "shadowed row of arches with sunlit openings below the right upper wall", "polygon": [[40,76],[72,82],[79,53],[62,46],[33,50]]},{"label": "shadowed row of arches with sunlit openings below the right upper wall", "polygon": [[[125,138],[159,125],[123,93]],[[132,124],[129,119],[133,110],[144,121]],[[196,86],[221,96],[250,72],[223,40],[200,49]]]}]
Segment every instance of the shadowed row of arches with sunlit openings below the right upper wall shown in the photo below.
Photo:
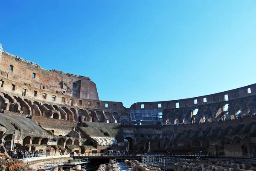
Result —
[{"label": "shadowed row of arches with sunlit openings below the right upper wall", "polygon": [[203,106],[196,109],[184,110],[166,110],[163,114],[163,124],[180,124],[180,123],[205,123],[218,122],[230,119],[239,119],[246,116],[256,115],[256,102],[253,99],[244,101],[233,101],[233,103],[223,103],[221,105]]}]

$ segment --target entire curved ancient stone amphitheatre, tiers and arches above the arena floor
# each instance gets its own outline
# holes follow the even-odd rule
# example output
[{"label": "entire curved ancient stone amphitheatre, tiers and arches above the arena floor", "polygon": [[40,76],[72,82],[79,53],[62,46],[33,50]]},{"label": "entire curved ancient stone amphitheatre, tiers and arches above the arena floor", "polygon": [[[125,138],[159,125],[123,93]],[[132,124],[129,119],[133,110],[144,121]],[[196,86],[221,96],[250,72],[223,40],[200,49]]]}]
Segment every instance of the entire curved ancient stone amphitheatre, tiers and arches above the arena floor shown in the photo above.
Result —
[{"label": "entire curved ancient stone amphitheatre, tiers and arches above the arena floor", "polygon": [[[96,84],[88,77],[44,70],[1,52],[0,46],[0,108],[4,110],[0,139],[9,148],[14,144],[68,145],[69,149],[91,145],[100,151],[118,149],[117,144],[127,139],[128,148],[149,153],[256,156],[256,84],[125,108],[122,102],[100,101]],[[116,124],[115,129],[107,123]]]}]

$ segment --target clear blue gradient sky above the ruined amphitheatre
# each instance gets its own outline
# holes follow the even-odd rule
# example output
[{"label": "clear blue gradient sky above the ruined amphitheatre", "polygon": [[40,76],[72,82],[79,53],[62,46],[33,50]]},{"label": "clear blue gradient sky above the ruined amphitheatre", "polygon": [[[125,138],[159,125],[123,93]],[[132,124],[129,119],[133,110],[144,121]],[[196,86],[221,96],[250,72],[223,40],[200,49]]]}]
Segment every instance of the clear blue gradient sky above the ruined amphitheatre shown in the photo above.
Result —
[{"label": "clear blue gradient sky above the ruined amphitheatre", "polygon": [[2,0],[0,21],[4,51],[125,107],[256,83],[256,0]]}]

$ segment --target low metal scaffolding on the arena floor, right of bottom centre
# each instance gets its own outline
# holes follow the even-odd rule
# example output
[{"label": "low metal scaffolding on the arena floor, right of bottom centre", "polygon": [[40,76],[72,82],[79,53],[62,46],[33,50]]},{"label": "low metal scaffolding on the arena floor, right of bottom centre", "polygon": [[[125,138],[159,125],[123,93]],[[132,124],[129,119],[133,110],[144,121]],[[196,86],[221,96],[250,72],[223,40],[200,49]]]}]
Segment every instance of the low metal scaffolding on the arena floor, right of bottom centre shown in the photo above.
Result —
[{"label": "low metal scaffolding on the arena floor, right of bottom centre", "polygon": [[154,157],[154,156],[143,156],[141,157],[143,165],[160,168],[162,171],[173,170],[175,159],[174,157]]}]

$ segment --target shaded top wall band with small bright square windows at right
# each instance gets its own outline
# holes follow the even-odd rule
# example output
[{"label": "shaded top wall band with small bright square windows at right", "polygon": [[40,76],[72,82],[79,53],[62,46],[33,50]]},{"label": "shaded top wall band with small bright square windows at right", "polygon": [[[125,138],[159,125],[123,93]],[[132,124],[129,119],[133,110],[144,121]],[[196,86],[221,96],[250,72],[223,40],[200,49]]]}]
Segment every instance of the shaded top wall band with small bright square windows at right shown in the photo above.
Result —
[{"label": "shaded top wall band with small bright square windows at right", "polygon": [[[131,110],[152,110],[152,109],[174,109],[184,107],[197,107],[207,104],[226,103],[235,99],[256,95],[256,84],[240,87],[205,96],[198,96],[189,99],[178,99],[171,101],[137,102],[131,105]],[[143,108],[144,105],[144,108]]]}]

